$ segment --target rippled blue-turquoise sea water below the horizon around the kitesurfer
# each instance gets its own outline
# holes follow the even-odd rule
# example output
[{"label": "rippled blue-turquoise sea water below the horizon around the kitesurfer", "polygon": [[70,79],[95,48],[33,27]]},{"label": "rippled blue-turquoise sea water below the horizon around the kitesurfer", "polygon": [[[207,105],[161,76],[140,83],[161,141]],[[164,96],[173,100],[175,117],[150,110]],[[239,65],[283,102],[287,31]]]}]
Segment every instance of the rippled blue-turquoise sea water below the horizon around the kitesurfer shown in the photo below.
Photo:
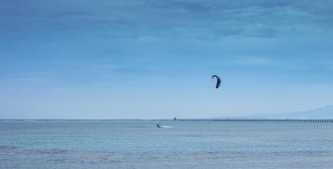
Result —
[{"label": "rippled blue-turquoise sea water below the horizon around the kitesurfer", "polygon": [[333,168],[333,123],[0,120],[0,168]]}]

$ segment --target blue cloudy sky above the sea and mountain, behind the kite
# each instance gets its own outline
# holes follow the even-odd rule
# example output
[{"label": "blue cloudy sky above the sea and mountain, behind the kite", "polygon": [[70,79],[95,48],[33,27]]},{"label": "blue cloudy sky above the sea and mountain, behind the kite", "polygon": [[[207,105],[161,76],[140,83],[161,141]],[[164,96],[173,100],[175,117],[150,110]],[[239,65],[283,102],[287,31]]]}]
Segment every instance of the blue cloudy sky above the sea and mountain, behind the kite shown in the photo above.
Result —
[{"label": "blue cloudy sky above the sea and mountain, behind the kite", "polygon": [[333,104],[332,8],[0,0],[0,119],[216,118]]}]

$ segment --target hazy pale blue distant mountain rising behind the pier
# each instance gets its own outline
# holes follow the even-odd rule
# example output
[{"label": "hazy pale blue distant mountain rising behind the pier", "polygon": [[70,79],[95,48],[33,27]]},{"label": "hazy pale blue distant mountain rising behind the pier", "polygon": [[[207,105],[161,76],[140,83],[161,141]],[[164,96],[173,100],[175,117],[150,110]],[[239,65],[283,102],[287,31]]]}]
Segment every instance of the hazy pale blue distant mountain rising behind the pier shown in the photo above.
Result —
[{"label": "hazy pale blue distant mountain rising behind the pier", "polygon": [[333,105],[317,108],[310,111],[297,111],[278,114],[254,114],[244,118],[267,118],[267,119],[333,119]]}]

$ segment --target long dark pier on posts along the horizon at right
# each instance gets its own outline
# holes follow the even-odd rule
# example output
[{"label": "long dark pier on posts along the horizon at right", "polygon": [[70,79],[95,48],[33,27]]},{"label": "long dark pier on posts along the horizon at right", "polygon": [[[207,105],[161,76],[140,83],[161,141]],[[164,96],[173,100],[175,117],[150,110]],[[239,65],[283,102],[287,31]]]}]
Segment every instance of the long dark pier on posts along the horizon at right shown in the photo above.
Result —
[{"label": "long dark pier on posts along the horizon at right", "polygon": [[300,119],[177,119],[178,121],[198,122],[248,122],[248,123],[333,123],[332,120],[300,120]]}]

